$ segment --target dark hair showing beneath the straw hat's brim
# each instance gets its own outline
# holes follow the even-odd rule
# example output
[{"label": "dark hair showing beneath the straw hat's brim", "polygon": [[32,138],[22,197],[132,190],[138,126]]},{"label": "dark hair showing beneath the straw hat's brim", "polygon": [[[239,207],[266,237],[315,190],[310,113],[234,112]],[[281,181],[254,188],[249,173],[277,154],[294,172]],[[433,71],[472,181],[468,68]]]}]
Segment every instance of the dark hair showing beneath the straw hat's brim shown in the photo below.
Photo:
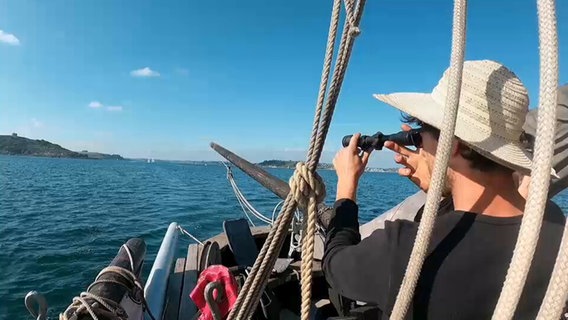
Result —
[{"label": "dark hair showing beneath the straw hat's brim", "polygon": [[[440,130],[438,128],[433,127],[414,116],[403,113],[401,121],[409,125],[416,125],[420,127],[422,131],[431,133],[436,140],[440,138]],[[461,141],[459,138],[458,142],[458,150],[460,152],[460,155],[464,159],[469,161],[470,168],[479,170],[481,172],[501,171],[510,172],[511,174],[513,173],[513,169],[507,168],[489,158],[484,157],[483,155],[469,147],[467,144],[465,144],[463,141]]]}]

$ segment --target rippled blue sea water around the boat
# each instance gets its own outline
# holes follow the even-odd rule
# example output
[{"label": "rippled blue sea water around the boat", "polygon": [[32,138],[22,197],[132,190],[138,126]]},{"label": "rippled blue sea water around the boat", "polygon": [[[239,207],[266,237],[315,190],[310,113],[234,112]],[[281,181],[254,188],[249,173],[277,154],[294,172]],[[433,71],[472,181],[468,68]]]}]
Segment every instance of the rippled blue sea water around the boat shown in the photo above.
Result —
[{"label": "rippled blue sea water around the boat", "polygon": [[[286,181],[292,174],[269,171]],[[247,199],[270,216],[279,199],[233,172]],[[332,204],[335,172],[320,175]],[[415,191],[396,174],[364,174],[362,222]],[[566,192],[555,200],[568,211]],[[23,305],[30,290],[46,296],[50,319],[57,319],[129,238],[146,241],[147,276],[170,222],[206,239],[222,231],[223,220],[237,217],[242,209],[222,165],[0,156],[0,319],[32,319]],[[190,243],[181,239],[182,247]]]}]

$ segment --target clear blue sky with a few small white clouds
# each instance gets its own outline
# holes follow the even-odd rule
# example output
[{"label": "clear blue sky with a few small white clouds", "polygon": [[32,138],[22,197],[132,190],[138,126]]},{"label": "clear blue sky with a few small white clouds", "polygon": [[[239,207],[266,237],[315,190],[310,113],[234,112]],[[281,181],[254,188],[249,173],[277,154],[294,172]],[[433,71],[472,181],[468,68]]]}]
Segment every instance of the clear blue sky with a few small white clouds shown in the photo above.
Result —
[{"label": "clear blue sky with a few small white clouds", "polygon": [[[538,94],[536,1],[470,1],[467,59]],[[568,2],[557,1],[560,56]],[[331,1],[0,1],[0,134],[127,157],[305,158]],[[368,1],[323,161],[341,137],[398,130],[373,93],[429,92],[448,66],[451,1]],[[561,59],[560,80],[568,82]],[[395,166],[392,153],[372,166]]]}]

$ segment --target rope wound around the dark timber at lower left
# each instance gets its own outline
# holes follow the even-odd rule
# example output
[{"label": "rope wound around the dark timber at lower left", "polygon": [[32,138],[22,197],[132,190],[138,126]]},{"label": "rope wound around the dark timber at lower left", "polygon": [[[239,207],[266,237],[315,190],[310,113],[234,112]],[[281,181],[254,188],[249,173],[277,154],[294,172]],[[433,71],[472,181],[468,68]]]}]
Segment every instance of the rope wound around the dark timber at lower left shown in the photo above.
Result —
[{"label": "rope wound around the dark timber at lower left", "polygon": [[[122,246],[128,253],[131,270],[134,270],[134,260],[132,259],[130,249],[126,245]],[[101,276],[106,273],[116,273],[120,275],[124,281],[100,279]],[[79,297],[74,297],[73,303],[67,307],[63,313],[59,314],[59,320],[77,319],[79,318],[79,315],[87,313],[93,320],[98,320],[99,316],[102,316],[104,319],[127,319],[128,314],[119,303],[89,292],[93,286],[101,283],[117,284],[126,288],[128,291],[131,291],[131,297],[133,297],[133,299],[137,299],[137,302],[143,302],[150,318],[152,320],[156,320],[154,315],[152,315],[148,309],[148,304],[146,303],[146,299],[144,299],[143,294],[144,288],[138,280],[138,277],[132,271],[117,266],[110,266],[101,270],[95,278],[95,281],[87,288],[87,292],[81,292]]]}]

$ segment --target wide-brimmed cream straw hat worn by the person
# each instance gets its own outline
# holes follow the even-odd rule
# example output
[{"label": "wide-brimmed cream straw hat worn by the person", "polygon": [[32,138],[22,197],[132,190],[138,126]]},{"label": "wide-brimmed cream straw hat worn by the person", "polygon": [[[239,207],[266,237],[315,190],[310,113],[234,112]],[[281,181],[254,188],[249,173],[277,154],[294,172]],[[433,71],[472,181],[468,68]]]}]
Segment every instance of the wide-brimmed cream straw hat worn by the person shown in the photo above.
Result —
[{"label": "wide-brimmed cream straw hat worn by the person", "polygon": [[[375,94],[374,97],[440,129],[448,78],[449,69],[432,93]],[[528,106],[527,89],[512,71],[491,60],[466,61],[455,136],[483,156],[528,173],[532,157],[520,141]]]}]

